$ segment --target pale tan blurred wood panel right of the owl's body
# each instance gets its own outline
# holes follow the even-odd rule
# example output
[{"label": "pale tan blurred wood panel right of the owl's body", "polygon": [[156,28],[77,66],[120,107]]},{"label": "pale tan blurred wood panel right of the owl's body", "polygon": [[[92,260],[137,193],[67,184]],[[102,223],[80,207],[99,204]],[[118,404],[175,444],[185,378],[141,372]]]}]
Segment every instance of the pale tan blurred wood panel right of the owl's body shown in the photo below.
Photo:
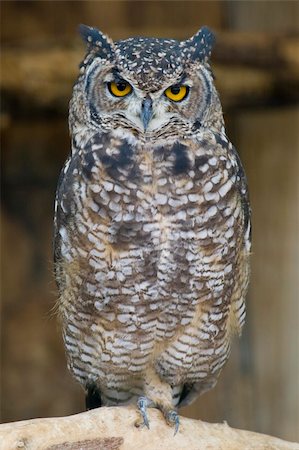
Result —
[{"label": "pale tan blurred wood panel right of the owl's body", "polygon": [[257,430],[299,439],[299,109],[243,111],[234,122],[252,206]]}]

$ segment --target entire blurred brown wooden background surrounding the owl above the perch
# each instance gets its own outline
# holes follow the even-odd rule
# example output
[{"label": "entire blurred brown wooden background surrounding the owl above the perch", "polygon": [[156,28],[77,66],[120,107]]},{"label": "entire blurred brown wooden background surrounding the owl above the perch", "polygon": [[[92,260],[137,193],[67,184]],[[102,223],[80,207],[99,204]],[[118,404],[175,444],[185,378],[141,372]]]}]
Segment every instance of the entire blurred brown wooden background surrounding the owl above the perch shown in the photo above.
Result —
[{"label": "entire blurred brown wooden background surrounding the owl above the perch", "polygon": [[84,409],[54,313],[53,202],[69,151],[77,26],[113,39],[217,33],[228,135],[253,211],[246,327],[217,387],[183,414],[299,440],[299,2],[1,2],[2,421]]}]

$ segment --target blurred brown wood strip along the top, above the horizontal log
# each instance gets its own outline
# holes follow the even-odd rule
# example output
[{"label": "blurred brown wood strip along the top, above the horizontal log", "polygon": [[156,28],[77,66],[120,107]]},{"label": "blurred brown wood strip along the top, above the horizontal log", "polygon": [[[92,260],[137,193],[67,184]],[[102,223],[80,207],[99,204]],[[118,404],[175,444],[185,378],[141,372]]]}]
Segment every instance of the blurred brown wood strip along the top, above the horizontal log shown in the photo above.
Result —
[{"label": "blurred brown wood strip along the top, above the horizontal log", "polygon": [[6,1],[1,4],[3,42],[73,40],[79,23],[115,39],[157,35],[185,38],[202,25],[221,29],[225,4],[218,1]]}]

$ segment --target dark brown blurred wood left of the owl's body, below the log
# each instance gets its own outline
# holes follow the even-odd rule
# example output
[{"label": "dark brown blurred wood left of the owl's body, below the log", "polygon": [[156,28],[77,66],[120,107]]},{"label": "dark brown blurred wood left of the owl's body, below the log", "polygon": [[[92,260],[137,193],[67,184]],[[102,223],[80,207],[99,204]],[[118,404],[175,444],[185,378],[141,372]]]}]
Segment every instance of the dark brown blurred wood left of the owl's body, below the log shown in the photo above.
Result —
[{"label": "dark brown blurred wood left of the owl's body, below the log", "polygon": [[12,119],[1,136],[2,421],[84,408],[66,367],[52,275],[54,193],[68,152],[66,117]]}]

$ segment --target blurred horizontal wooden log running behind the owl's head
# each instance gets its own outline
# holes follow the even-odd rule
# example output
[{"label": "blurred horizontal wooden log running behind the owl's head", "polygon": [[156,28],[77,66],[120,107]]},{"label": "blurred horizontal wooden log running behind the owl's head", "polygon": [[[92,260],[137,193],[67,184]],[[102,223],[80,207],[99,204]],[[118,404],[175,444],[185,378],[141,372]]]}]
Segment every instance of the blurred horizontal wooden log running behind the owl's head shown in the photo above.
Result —
[{"label": "blurred horizontal wooden log running behind the owl's head", "polygon": [[[3,46],[4,104],[65,113],[84,52],[82,44]],[[298,100],[298,55],[298,36],[218,33],[212,66],[225,107]]]}]

